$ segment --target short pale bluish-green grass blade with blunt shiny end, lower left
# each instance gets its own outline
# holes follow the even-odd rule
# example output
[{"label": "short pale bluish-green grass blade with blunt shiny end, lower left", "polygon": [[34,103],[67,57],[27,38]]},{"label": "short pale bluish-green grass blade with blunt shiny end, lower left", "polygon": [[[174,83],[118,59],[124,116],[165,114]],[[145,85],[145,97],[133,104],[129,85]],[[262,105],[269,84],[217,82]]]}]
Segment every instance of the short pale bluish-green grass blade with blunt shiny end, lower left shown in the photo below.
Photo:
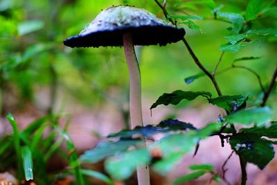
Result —
[{"label": "short pale bluish-green grass blade with blunt shiny end, lower left", "polygon": [[28,146],[21,147],[23,168],[26,181],[34,178],[32,152]]}]

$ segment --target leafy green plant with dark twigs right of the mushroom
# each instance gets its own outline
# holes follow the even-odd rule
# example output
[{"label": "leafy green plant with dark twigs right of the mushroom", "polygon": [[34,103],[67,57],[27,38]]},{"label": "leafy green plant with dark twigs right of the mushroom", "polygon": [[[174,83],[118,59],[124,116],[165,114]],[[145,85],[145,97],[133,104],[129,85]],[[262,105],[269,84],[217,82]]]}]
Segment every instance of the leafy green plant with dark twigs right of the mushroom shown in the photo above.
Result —
[{"label": "leafy green plant with dark twigs right of the mushroom", "polygon": [[[270,139],[275,139],[277,136],[275,130],[276,122],[274,122],[276,111],[266,105],[269,95],[272,94],[276,87],[277,67],[276,64],[273,64],[274,73],[271,75],[269,85],[266,87],[262,84],[260,76],[255,70],[238,64],[238,62],[242,61],[258,60],[260,57],[244,56],[233,60],[231,67],[222,69],[222,71],[217,71],[217,68],[222,64],[223,57],[227,52],[237,53],[259,39],[262,39],[264,42],[276,42],[277,29],[274,27],[276,22],[267,22],[267,19],[270,20],[276,16],[271,13],[271,10],[276,8],[273,3],[274,1],[250,0],[246,4],[243,13],[224,12],[221,10],[223,6],[217,6],[214,1],[190,1],[188,3],[182,1],[163,1],[163,3],[157,0],[154,1],[161,8],[166,19],[175,26],[177,24],[185,24],[192,30],[203,31],[202,28],[195,24],[194,20],[214,19],[215,21],[228,23],[229,28],[227,30],[229,32],[226,36],[227,44],[220,46],[222,53],[213,71],[206,69],[202,62],[199,61],[197,55],[188,44],[186,37],[182,39],[186,49],[188,49],[188,53],[190,53],[193,61],[202,71],[185,78],[185,82],[190,84],[198,78],[208,77],[217,92],[215,98],[208,91],[177,90],[160,96],[150,109],[158,105],[177,105],[181,100],[194,100],[198,96],[203,96],[208,100],[208,103],[224,109],[226,114],[220,115],[217,123],[208,123],[202,129],[177,120],[166,120],[157,126],[138,126],[133,130],[122,130],[116,134],[109,135],[109,137],[118,138],[118,141],[100,143],[97,148],[85,152],[80,159],[81,161],[93,163],[108,157],[106,169],[115,179],[128,178],[132,175],[130,171],[135,170],[136,165],[142,164],[151,164],[159,173],[168,173],[184,154],[190,152],[199,144],[200,140],[206,139],[208,136],[219,136],[222,147],[224,147],[225,141],[227,143],[229,141],[233,151],[240,157],[241,184],[244,185],[247,182],[247,163],[256,164],[260,169],[263,169],[274,157],[275,152],[272,145],[276,144],[276,142]],[[211,10],[211,14],[207,17],[190,15],[191,12],[199,13],[195,9],[197,6],[205,6]],[[167,8],[170,9],[170,14]],[[171,15],[171,12],[172,14],[175,12],[176,15]],[[215,77],[231,69],[244,69],[253,73],[258,80],[258,87],[260,89],[256,91],[256,94],[261,94],[260,98],[253,100],[254,98],[251,97],[253,94],[251,96],[222,94],[221,86]],[[251,127],[238,129],[237,125],[251,125]],[[166,136],[159,141],[154,141],[148,149],[143,147],[141,139],[134,139],[136,135],[152,139],[152,135],[157,132],[166,133]],[[264,137],[267,137],[267,139]],[[132,146],[132,150],[129,150],[130,146]],[[110,150],[111,148],[113,150]],[[151,151],[157,148],[161,150],[162,158],[159,161],[153,162]],[[95,159],[95,156],[98,156],[98,158]],[[204,165],[200,165],[199,168],[191,167],[191,169],[197,169],[198,171],[177,179],[175,183],[179,184],[196,179],[208,172],[213,174],[212,179],[216,182],[222,178],[226,184],[229,184],[227,179],[224,178],[225,171],[220,175],[213,172],[211,166]]]}]

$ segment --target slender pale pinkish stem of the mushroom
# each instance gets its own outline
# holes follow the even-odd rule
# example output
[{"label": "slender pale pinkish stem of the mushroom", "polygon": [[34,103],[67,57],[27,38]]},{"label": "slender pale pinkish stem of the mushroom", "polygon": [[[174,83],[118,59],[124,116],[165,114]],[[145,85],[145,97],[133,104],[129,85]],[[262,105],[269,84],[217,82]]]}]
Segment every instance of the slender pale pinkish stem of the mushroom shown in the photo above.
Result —
[{"label": "slender pale pinkish stem of the mushroom", "polygon": [[[125,58],[129,70],[129,109],[132,129],[143,126],[141,113],[141,71],[134,51],[133,37],[131,33],[123,33],[123,45]],[[146,143],[145,147],[146,147]],[[136,168],[139,185],[150,185],[149,167],[145,164]]]}]

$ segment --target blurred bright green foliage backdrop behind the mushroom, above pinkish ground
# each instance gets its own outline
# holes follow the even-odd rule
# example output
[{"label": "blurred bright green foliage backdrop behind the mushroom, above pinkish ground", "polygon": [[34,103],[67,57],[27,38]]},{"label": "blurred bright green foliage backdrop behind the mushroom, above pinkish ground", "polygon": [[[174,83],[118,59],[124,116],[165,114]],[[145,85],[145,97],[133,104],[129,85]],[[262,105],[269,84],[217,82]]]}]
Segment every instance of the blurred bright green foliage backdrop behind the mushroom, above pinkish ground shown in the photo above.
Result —
[{"label": "blurred bright green foliage backdrop behind the mushroom, above pinkish ground", "polygon": [[[209,4],[213,1],[168,1],[172,15],[188,13],[203,20],[195,24],[202,31],[190,30],[185,24],[186,39],[199,60],[213,71],[219,60],[221,44],[226,44],[230,24],[213,20]],[[221,11],[243,14],[247,1],[215,1],[224,4]],[[69,100],[82,106],[107,103],[109,97],[127,100],[128,74],[122,48],[70,49],[63,39],[78,35],[96,15],[111,5],[128,4],[145,8],[165,19],[154,1],[60,0],[0,1],[0,78],[1,114],[22,110],[31,104],[45,112],[66,106]],[[275,19],[254,22],[276,28],[276,8],[267,12]],[[244,61],[267,85],[276,66],[276,37],[258,37],[238,53],[227,52],[218,71],[231,66],[236,58],[261,57]],[[206,77],[187,85],[184,78],[201,72],[183,43],[167,46],[144,46],[141,49],[143,97],[154,102],[164,92],[175,89],[211,91],[215,89]],[[230,69],[217,76],[223,94],[258,96],[260,87],[252,73]],[[120,98],[121,97],[121,98]],[[104,101],[105,100],[105,101]]]}]

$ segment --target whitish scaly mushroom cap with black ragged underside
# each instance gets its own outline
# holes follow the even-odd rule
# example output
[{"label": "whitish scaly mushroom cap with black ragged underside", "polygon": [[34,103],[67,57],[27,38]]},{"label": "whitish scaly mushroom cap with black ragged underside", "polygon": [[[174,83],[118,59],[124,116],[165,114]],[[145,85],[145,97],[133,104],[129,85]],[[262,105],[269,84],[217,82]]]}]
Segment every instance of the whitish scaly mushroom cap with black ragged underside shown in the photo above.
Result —
[{"label": "whitish scaly mushroom cap with black ragged underside", "polygon": [[132,33],[134,45],[165,46],[181,40],[185,30],[141,8],[111,6],[102,10],[79,35],[65,39],[64,45],[71,48],[123,46],[123,33]]}]

